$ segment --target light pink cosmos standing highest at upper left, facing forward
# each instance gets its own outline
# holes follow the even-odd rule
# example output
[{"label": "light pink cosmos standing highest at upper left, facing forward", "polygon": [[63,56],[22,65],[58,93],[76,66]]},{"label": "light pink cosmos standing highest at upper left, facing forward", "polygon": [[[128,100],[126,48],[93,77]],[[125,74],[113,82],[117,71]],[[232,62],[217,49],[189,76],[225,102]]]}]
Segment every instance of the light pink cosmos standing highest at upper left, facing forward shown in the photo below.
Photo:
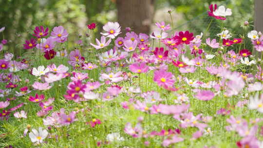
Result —
[{"label": "light pink cosmos standing highest at upper left, facing forward", "polygon": [[68,32],[62,26],[54,27],[51,32],[51,38],[59,43],[63,43],[67,40]]}]

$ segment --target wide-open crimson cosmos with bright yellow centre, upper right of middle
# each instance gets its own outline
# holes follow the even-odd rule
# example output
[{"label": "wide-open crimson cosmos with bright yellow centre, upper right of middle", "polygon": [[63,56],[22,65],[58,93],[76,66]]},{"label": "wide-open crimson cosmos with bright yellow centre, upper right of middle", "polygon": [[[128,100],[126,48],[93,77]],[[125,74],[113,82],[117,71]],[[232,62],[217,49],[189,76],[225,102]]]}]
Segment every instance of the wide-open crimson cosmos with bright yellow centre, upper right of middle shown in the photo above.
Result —
[{"label": "wide-open crimson cosmos with bright yellow centre, upper right of middle", "polygon": [[190,44],[190,41],[194,39],[193,33],[189,33],[189,31],[183,32],[180,31],[178,36],[175,36],[177,44],[185,43]]}]

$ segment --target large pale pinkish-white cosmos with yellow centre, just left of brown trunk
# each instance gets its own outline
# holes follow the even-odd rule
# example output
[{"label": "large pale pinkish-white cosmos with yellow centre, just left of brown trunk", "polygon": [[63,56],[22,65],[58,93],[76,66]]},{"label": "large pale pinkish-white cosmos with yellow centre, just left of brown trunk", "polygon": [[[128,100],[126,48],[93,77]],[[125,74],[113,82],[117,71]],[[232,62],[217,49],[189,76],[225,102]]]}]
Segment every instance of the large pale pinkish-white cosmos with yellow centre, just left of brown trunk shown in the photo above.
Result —
[{"label": "large pale pinkish-white cosmos with yellow centre, just left of brown trunk", "polygon": [[108,22],[102,28],[106,33],[101,34],[106,37],[115,38],[121,33],[120,24],[118,22]]}]

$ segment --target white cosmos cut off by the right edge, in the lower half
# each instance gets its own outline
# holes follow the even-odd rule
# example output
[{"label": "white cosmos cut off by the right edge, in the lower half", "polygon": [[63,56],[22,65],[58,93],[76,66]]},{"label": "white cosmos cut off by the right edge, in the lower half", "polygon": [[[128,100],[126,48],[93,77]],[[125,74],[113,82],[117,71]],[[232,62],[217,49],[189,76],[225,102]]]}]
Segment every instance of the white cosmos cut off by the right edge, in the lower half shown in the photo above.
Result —
[{"label": "white cosmos cut off by the right edge, in the lower half", "polygon": [[259,93],[257,92],[255,96],[249,97],[248,108],[250,110],[258,110],[263,113],[263,98],[259,98]]}]

